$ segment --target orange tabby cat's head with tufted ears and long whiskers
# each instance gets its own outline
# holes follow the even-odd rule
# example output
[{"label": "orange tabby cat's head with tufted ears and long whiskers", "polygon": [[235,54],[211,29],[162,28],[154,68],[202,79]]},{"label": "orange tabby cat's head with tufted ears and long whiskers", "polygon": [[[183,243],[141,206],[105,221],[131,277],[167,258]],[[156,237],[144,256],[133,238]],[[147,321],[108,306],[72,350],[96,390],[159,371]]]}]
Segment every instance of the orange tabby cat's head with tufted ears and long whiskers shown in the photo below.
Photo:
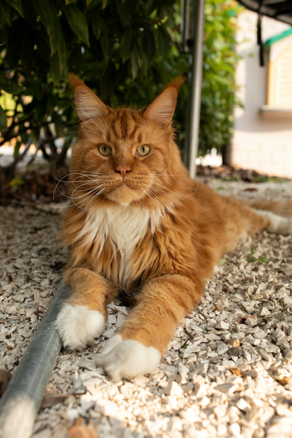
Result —
[{"label": "orange tabby cat's head with tufted ears and long whiskers", "polygon": [[173,141],[172,116],[183,78],[176,78],[147,107],[106,106],[70,75],[80,120],[71,157],[72,200],[83,208],[103,203],[162,205],[185,172]]}]

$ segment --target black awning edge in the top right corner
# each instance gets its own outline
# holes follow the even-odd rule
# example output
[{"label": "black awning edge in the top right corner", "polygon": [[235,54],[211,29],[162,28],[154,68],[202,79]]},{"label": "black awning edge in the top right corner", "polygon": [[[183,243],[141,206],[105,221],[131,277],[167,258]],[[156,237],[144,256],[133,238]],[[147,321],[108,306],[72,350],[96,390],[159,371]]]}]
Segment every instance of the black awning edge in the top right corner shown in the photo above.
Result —
[{"label": "black awning edge in the top right corner", "polygon": [[251,11],[292,25],[292,0],[239,0],[239,3]]}]

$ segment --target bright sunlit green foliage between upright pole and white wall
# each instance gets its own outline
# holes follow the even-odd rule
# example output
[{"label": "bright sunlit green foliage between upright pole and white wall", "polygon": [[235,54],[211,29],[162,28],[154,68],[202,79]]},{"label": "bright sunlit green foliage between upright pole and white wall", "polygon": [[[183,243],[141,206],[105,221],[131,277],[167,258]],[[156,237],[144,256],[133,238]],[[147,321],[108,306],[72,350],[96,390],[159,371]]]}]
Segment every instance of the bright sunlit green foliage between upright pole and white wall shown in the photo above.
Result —
[{"label": "bright sunlit green foliage between upright pole and white wall", "polygon": [[204,64],[199,151],[219,151],[229,144],[236,98],[236,14],[233,0],[207,0],[205,6]]}]

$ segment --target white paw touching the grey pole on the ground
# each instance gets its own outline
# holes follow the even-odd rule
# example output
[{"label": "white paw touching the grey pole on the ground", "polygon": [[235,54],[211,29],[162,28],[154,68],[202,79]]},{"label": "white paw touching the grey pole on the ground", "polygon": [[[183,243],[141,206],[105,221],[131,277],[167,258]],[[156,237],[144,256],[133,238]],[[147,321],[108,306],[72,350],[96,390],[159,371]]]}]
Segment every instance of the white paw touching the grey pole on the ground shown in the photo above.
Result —
[{"label": "white paw touching the grey pole on the ground", "polygon": [[93,345],[94,339],[104,332],[105,321],[96,310],[65,304],[57,316],[56,327],[64,347],[84,350],[87,345]]}]

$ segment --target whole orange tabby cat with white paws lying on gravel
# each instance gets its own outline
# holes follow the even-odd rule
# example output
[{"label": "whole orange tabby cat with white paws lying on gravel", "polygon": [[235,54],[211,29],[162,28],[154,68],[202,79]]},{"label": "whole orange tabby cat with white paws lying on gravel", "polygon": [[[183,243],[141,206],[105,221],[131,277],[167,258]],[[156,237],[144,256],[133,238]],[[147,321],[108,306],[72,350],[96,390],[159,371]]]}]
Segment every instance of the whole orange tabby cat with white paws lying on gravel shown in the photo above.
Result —
[{"label": "whole orange tabby cat with white paws lying on gravel", "polygon": [[262,229],[292,233],[291,219],[190,179],[172,129],[182,82],[176,78],[147,108],[113,110],[70,76],[81,123],[63,226],[73,293],[57,327],[64,346],[84,349],[105,329],[106,304],[130,294],[133,310],[97,359],[113,379],[155,370],[218,258],[240,239]]}]

